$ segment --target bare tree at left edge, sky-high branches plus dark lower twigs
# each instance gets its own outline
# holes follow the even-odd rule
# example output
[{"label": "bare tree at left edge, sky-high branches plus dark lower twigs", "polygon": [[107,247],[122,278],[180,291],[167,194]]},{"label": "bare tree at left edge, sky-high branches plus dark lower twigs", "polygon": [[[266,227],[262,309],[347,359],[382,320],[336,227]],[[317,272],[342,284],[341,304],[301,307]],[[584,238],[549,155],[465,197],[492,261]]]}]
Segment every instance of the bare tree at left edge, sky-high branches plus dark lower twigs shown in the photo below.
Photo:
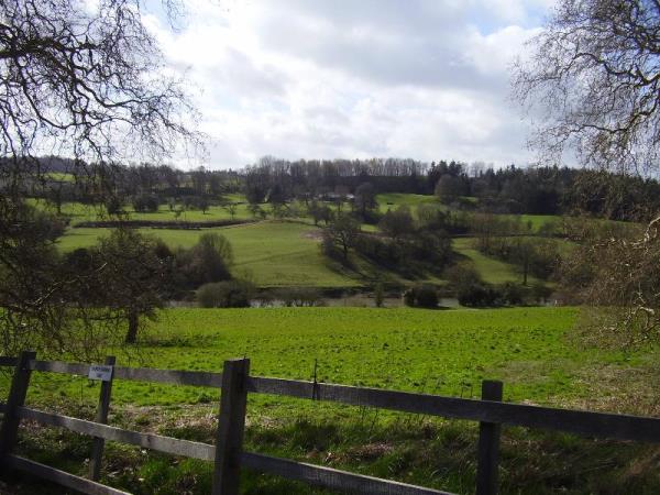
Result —
[{"label": "bare tree at left edge, sky-high branches plus dark lower twigs", "polygon": [[[163,2],[173,16],[176,1]],[[48,222],[24,201],[25,191],[44,183],[47,170],[38,156],[69,157],[74,164],[69,172],[91,178],[87,184],[102,200],[101,193],[113,193],[118,161],[168,156],[200,143],[194,130],[197,113],[180,80],[167,75],[165,57],[143,23],[143,6],[140,0],[0,2],[4,352],[23,345],[53,349],[50,344],[55,341],[62,352],[81,341],[97,344],[76,329],[85,315],[69,311],[61,297],[85,280],[59,270],[53,235],[44,227]],[[99,319],[98,309],[94,311]],[[28,328],[31,337],[23,339]]]}]

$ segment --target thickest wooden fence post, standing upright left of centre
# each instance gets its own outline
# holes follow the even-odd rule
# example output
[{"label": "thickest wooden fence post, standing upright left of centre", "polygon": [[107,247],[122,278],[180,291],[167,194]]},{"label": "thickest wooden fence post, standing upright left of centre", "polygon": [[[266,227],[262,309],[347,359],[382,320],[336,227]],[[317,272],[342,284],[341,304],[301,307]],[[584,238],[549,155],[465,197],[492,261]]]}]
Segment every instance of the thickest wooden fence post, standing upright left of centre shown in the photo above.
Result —
[{"label": "thickest wooden fence post, standing upright left of centre", "polygon": [[212,495],[238,495],[245,431],[250,360],[229,360],[222,370],[222,396],[216,433]]}]

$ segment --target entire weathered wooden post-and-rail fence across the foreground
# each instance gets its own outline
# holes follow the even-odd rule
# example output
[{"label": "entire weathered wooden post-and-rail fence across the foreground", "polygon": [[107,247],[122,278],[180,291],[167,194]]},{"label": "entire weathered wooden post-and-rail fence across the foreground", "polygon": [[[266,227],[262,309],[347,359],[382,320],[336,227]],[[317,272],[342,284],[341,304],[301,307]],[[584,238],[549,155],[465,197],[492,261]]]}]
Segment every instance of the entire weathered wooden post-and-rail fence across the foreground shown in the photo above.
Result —
[{"label": "entire weathered wooden post-and-rail fence across the foreground", "polygon": [[[381,480],[243,450],[248,393],[274,394],[314,400],[331,400],[353,406],[371,406],[404,413],[468,419],[480,422],[476,494],[497,493],[499,430],[502,425],[566,431],[588,437],[660,443],[660,418],[590,413],[569,409],[509,404],[502,402],[502,383],[483,382],[482,399],[361,388],[317,382],[266,378],[250,375],[250,360],[224,362],[222,373],[154,370],[113,366],[108,358],[109,374],[103,381],[96,421],[25,407],[25,396],[33,371],[88,376],[89,364],[38,361],[34,352],[19,358],[0,358],[0,366],[13,366],[11,388],[6,404],[0,404],[2,469],[26,471],[63,486],[92,495],[125,494],[98,483],[106,440],[131,443],[175,455],[215,463],[213,495],[237,495],[242,468],[272,473],[340,492],[365,495],[439,495],[431,488]],[[152,433],[124,430],[106,425],[113,380],[157,382],[219,388],[220,411],[216,446],[179,440]],[[66,428],[94,437],[89,479],[53,469],[15,455],[13,452],[22,419]]]}]

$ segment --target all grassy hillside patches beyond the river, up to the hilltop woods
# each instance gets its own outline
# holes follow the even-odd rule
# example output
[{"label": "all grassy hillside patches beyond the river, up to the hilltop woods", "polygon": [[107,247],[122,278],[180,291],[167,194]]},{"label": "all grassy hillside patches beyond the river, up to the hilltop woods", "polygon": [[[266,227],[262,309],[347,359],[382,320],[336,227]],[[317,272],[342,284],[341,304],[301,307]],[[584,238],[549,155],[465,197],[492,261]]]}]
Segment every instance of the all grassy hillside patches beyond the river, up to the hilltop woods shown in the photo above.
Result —
[{"label": "all grassy hillside patches beyond the river, up to the hilltop woods", "polygon": [[[234,202],[244,201],[240,195],[226,198]],[[438,208],[447,208],[435,196],[411,194],[384,194],[377,195],[382,212],[388,208],[396,209],[406,205],[415,209],[416,206],[426,204]],[[264,208],[268,209],[267,206]],[[297,205],[304,212],[304,206]],[[345,207],[348,208],[348,207]],[[178,218],[164,205],[155,213],[135,213],[128,209],[133,220],[152,221],[213,221],[227,220],[229,212],[219,206],[211,207],[207,213],[199,210],[185,211]],[[65,204],[63,212],[69,215],[72,223],[90,221],[103,218],[102,208],[92,208],[80,204]],[[252,218],[246,205],[238,206],[237,219]],[[535,229],[552,217],[521,216],[522,221],[530,221]],[[364,231],[377,231],[376,226],[362,226]],[[392,273],[373,263],[352,255],[352,265],[342,266],[340,263],[328,260],[318,248],[320,229],[312,224],[311,219],[302,218],[296,222],[265,221],[251,226],[237,226],[230,228],[215,228],[205,230],[174,230],[174,229],[141,229],[141,232],[155,235],[172,248],[189,248],[194,245],[204,232],[213,231],[226,235],[234,248],[235,265],[233,272],[243,276],[251,274],[260,286],[317,286],[317,287],[352,287],[382,279],[394,283],[410,283],[411,280],[402,273]],[[59,240],[59,249],[67,252],[76,248],[85,248],[96,243],[99,235],[106,235],[107,229],[97,228],[69,228]],[[466,239],[457,239],[453,242],[457,253],[471,263],[482,275],[484,280],[499,284],[503,282],[519,282],[520,275],[516,268],[505,262],[488,257],[472,249]],[[439,274],[424,274],[418,282],[442,283]]]}]

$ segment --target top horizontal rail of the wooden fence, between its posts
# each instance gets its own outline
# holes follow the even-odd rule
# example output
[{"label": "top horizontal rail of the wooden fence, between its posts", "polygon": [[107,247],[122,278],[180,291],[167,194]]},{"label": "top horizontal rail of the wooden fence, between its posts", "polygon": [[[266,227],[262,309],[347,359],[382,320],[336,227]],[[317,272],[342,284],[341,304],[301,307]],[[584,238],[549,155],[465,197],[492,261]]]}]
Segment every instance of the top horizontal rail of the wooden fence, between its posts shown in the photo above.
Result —
[{"label": "top horizontal rail of the wooden fence, between its posts", "polygon": [[[0,366],[12,366],[15,365],[15,358],[0,358]],[[80,376],[87,376],[89,366],[89,364],[64,363],[59,361],[32,360],[29,362],[29,369],[32,371]],[[222,373],[155,370],[148,367],[116,366],[114,378],[213,388],[222,385]],[[588,437],[652,443],[660,442],[659,418],[444,397],[262,376],[248,377],[246,386],[248,392],[257,394],[336,402],[351,406],[370,406],[380,409],[440,416],[451,419],[559,430]],[[0,411],[2,411],[2,407],[0,405]]]}]

